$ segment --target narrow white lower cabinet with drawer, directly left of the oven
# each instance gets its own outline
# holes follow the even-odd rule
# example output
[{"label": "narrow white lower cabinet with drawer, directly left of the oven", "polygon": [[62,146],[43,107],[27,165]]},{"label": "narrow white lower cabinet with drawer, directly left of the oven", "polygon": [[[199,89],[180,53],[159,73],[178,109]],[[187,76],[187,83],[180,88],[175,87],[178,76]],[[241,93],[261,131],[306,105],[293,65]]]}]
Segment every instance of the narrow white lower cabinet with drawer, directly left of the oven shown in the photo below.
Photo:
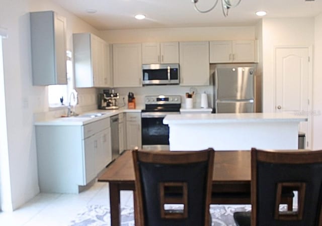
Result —
[{"label": "narrow white lower cabinet with drawer, directly left of the oven", "polygon": [[127,149],[142,148],[141,113],[126,113]]}]

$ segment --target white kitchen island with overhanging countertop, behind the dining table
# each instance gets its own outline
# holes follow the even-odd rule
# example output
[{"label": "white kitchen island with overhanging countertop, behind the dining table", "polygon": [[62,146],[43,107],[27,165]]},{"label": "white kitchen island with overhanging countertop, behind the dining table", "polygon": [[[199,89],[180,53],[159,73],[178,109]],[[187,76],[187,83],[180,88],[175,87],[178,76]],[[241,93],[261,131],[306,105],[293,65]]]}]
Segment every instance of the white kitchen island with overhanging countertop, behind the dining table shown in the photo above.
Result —
[{"label": "white kitchen island with overhanging countertop, behind the dining table", "polygon": [[297,149],[307,117],[287,113],[168,115],[171,151]]}]

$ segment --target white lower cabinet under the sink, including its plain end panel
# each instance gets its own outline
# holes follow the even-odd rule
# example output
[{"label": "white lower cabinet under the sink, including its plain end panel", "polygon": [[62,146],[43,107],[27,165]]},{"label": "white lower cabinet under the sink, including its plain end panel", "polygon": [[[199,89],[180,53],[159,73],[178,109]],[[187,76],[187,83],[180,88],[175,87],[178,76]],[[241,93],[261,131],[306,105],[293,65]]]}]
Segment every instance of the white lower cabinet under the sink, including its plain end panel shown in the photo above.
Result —
[{"label": "white lower cabinet under the sink, including its plain end panel", "polygon": [[78,193],[112,160],[110,119],[85,126],[36,126],[41,192]]}]

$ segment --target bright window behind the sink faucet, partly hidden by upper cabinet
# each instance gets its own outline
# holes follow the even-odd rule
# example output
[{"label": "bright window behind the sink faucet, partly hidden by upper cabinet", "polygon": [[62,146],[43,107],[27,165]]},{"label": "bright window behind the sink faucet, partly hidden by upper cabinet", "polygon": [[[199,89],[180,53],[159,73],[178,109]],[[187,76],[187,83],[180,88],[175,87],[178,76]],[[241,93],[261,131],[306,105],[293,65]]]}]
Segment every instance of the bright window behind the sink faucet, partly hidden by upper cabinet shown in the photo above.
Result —
[{"label": "bright window behind the sink faucet, partly hidden by upper cabinet", "polygon": [[[67,61],[67,85],[49,85],[48,86],[48,103],[49,107],[59,107],[68,105],[68,93],[73,90],[73,71],[72,71],[72,54],[66,51]],[[62,100],[62,103],[61,103]]]}]

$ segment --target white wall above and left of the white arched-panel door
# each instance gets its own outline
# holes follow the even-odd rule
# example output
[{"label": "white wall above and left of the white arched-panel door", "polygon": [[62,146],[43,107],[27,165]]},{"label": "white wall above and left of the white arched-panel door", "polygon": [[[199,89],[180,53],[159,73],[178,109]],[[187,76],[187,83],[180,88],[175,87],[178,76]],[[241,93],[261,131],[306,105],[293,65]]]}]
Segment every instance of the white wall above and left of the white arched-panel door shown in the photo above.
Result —
[{"label": "white wall above and left of the white arched-panel door", "polygon": [[275,111],[274,47],[312,46],[314,18],[263,19],[263,111]]}]

